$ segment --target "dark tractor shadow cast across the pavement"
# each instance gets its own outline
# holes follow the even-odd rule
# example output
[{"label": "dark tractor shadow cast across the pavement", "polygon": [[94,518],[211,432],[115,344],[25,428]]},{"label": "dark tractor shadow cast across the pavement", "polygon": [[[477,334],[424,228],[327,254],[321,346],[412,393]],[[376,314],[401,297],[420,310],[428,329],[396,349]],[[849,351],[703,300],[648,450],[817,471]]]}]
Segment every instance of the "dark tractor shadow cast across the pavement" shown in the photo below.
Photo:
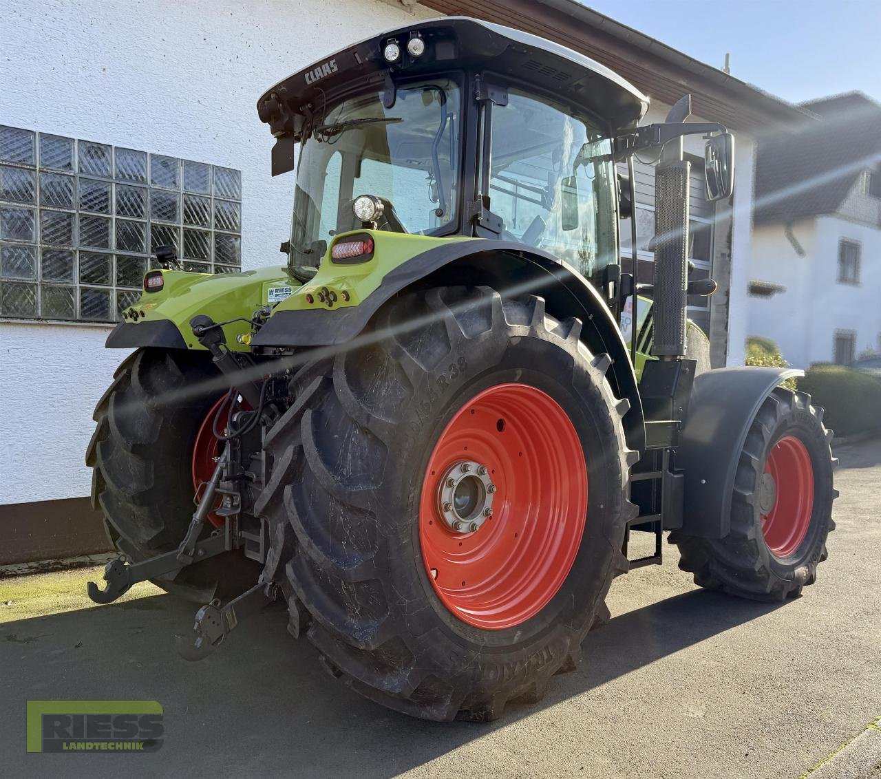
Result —
[{"label": "dark tractor shadow cast across the pavement", "polygon": [[[775,607],[692,590],[627,612],[589,634],[585,663],[556,677],[541,704],[509,707],[490,724],[426,723],[361,699],[322,671],[306,639],[288,636],[280,607],[243,623],[195,664],[173,647],[174,633],[189,629],[193,608],[171,596],[22,619],[0,625],[0,662],[19,671],[7,676],[0,702],[10,724],[4,738],[11,748],[3,751],[11,757],[9,775],[36,768],[34,756],[22,753],[28,699],[150,699],[166,712],[166,746],[155,760],[177,775],[390,776]],[[55,759],[70,760],[40,757]],[[90,760],[89,771],[109,773],[111,764],[122,766],[118,760],[131,766],[130,756],[102,755]]]}]

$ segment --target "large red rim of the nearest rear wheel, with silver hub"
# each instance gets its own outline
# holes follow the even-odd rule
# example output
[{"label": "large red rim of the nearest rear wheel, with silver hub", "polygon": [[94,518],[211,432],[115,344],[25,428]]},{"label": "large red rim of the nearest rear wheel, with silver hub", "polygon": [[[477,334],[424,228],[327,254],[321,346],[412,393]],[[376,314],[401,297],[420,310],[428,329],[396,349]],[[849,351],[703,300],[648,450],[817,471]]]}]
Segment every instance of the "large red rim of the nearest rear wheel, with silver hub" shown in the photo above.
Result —
[{"label": "large red rim of the nearest rear wheel, with silver hub", "polygon": [[423,479],[419,541],[434,591],[474,627],[520,625],[566,581],[587,508],[581,441],[560,405],[527,384],[483,390],[450,419]]}]

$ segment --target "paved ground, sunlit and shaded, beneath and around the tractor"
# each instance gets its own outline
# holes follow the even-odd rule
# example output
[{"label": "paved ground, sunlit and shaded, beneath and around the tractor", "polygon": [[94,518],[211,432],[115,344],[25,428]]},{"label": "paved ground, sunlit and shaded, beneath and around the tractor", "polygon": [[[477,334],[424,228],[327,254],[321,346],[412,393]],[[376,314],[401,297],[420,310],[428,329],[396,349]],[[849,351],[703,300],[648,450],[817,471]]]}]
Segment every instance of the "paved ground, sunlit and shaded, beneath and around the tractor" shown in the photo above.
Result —
[{"label": "paved ground, sunlit and shaded, beneath and around the tractor", "polygon": [[[288,636],[280,610],[188,664],[172,635],[194,610],[150,584],[94,607],[85,581],[100,569],[2,579],[3,773],[879,777],[881,439],[838,454],[838,530],[803,597],[760,605],[699,590],[669,547],[663,568],[614,582],[613,619],[589,635],[578,671],[488,725],[362,700]],[[27,754],[28,699],[159,701],[165,745]]]}]

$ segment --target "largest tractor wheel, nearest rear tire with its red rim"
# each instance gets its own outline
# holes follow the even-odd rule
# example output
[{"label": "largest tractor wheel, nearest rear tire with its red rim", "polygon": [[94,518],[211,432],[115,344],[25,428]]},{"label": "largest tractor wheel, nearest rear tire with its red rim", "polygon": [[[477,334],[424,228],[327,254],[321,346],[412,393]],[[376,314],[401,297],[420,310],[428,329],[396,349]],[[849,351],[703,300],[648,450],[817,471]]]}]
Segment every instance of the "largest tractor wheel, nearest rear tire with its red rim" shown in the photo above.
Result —
[{"label": "largest tractor wheel, nearest rear tire with its red rim", "polygon": [[294,377],[257,508],[332,675],[412,716],[493,719],[608,618],[628,404],[537,297],[407,293],[372,327]]}]

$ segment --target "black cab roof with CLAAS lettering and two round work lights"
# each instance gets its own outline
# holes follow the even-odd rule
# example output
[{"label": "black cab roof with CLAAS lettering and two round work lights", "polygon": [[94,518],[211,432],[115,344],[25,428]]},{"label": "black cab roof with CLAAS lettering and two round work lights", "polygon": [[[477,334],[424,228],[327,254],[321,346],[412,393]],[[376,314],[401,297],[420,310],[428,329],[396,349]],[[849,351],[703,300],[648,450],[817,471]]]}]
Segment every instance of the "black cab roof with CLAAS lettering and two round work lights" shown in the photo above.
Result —
[{"label": "black cab roof with CLAAS lettering and two round work lights", "polygon": [[[422,56],[407,52],[414,36],[426,43]],[[396,63],[382,56],[389,41],[401,49]],[[257,111],[274,136],[298,138],[304,122],[352,82],[382,88],[389,77],[463,69],[542,87],[602,116],[616,130],[632,126],[648,109],[648,98],[626,79],[571,48],[491,22],[441,17],[374,35],[298,70],[263,93]]]}]

